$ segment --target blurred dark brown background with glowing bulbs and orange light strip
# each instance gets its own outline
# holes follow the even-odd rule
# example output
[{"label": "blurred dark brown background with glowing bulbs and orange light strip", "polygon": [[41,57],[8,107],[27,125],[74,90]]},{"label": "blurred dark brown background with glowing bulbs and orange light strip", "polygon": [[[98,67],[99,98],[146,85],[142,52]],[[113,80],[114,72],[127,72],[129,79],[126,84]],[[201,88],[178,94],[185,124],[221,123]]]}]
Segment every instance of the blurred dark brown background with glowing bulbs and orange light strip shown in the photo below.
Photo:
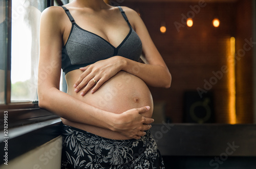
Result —
[{"label": "blurred dark brown background with glowing bulbs and orange light strip", "polygon": [[169,89],[150,88],[158,122],[256,122],[254,1],[109,3],[139,13],[172,74]]}]

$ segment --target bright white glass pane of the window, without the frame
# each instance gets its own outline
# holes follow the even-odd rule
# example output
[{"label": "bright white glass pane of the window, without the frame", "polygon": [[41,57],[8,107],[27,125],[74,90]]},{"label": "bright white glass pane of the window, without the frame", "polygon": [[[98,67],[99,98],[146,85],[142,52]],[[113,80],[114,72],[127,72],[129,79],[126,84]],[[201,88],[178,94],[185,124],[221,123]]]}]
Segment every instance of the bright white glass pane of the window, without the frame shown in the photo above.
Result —
[{"label": "bright white glass pane of the window, without the frame", "polygon": [[12,3],[11,102],[37,100],[39,22],[45,7],[37,0]]}]

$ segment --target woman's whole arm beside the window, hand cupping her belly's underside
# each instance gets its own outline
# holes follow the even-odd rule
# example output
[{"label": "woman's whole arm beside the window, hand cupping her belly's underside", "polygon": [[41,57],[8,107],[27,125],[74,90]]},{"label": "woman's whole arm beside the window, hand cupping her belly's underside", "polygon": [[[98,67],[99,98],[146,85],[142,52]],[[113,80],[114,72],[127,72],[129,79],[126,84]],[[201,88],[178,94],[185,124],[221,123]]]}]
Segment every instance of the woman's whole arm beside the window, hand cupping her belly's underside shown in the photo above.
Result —
[{"label": "woman's whole arm beside the window, hand cupping her belly's underside", "polygon": [[[39,107],[62,118],[120,132],[130,138],[140,138],[154,120],[140,113],[149,108],[131,109],[121,114],[106,112],[85,104],[59,90],[63,24],[63,9],[50,7],[40,20],[40,58],[38,66]],[[69,22],[70,23],[70,22]]]}]

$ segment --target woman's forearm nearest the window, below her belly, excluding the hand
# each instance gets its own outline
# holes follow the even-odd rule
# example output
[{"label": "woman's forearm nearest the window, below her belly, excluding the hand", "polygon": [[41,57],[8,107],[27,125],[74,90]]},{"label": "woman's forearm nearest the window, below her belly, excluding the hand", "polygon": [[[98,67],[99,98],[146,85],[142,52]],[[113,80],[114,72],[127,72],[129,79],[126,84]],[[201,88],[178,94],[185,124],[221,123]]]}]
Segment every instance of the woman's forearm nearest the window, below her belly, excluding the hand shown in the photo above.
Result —
[{"label": "woman's forearm nearest the window, below her belly, excluding the hand", "polygon": [[47,109],[73,122],[113,130],[112,120],[116,118],[114,113],[90,106],[54,87],[38,95],[40,108]]}]

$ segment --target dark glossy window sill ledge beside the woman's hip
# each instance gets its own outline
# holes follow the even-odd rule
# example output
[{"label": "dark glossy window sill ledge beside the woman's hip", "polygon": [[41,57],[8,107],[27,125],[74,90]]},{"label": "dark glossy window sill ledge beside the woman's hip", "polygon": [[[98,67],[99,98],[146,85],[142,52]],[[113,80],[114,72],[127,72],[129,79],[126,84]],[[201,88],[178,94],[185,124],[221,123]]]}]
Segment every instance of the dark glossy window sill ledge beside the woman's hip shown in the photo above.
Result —
[{"label": "dark glossy window sill ledge beside the woman's hip", "polygon": [[[40,108],[12,109],[8,111],[8,135],[4,134],[4,120],[1,119],[0,147],[5,148],[8,140],[8,161],[18,157],[61,134],[61,120]],[[1,112],[4,113],[3,110]],[[2,161],[4,163],[4,161]],[[1,163],[1,164],[2,164]]]}]

